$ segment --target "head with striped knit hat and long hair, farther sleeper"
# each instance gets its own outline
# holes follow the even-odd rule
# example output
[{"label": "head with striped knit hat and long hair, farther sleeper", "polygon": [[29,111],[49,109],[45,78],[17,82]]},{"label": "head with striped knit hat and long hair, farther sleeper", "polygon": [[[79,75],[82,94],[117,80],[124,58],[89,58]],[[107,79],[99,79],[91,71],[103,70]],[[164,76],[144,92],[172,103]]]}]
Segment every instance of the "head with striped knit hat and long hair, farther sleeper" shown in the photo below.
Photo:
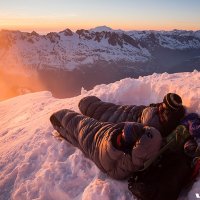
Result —
[{"label": "head with striped knit hat and long hair, farther sleeper", "polygon": [[162,123],[167,123],[172,119],[181,120],[185,114],[181,97],[176,93],[166,94],[159,105],[158,112]]}]

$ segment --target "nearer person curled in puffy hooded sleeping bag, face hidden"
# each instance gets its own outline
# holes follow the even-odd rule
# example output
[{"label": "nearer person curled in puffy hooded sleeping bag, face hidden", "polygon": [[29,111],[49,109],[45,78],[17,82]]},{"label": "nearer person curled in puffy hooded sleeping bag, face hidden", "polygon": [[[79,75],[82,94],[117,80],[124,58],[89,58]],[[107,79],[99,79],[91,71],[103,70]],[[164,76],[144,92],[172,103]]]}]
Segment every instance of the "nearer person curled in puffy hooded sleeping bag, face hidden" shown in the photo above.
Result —
[{"label": "nearer person curled in puffy hooded sleeping bag, face hidden", "polygon": [[63,138],[114,179],[128,178],[143,168],[162,144],[157,129],[137,122],[99,122],[68,109],[55,112],[50,121]]}]

